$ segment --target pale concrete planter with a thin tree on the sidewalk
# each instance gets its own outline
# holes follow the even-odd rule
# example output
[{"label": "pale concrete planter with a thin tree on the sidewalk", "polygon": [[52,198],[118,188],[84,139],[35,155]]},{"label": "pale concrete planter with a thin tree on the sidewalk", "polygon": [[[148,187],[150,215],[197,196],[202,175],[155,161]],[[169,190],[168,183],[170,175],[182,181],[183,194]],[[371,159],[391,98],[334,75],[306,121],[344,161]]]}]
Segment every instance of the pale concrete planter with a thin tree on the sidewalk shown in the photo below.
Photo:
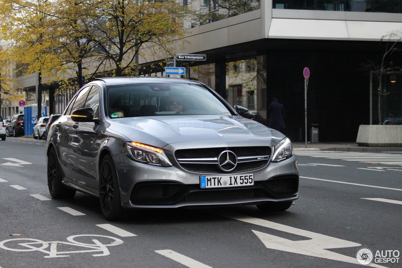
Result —
[{"label": "pale concrete planter with a thin tree on the sidewalk", "polygon": [[360,125],[356,143],[367,147],[402,147],[402,126]]}]

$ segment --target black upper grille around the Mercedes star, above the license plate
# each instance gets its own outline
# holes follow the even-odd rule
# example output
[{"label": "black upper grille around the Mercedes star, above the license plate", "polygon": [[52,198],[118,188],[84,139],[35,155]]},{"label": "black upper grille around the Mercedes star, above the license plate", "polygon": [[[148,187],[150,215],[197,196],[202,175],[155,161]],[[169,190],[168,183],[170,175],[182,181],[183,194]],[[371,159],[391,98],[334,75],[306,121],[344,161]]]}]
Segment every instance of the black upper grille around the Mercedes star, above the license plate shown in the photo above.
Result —
[{"label": "black upper grille around the Mercedes star, above the license plate", "polygon": [[[225,150],[230,150],[238,157],[238,164],[230,173],[249,172],[265,167],[269,163],[271,147],[269,146],[250,146],[250,147],[221,147],[221,148],[197,148],[176,150],[174,156],[183,169],[196,173],[222,174],[225,171],[219,168],[217,159]],[[263,157],[263,159],[257,159]],[[251,159],[241,159],[241,157],[255,157]],[[240,159],[239,159],[240,158]],[[198,159],[197,161],[186,161],[187,159]],[[202,159],[208,159],[203,161]],[[215,159],[215,161],[211,161]],[[193,162],[193,163],[186,163]],[[199,162],[199,163],[197,163]],[[207,162],[207,164],[205,163]]]}]

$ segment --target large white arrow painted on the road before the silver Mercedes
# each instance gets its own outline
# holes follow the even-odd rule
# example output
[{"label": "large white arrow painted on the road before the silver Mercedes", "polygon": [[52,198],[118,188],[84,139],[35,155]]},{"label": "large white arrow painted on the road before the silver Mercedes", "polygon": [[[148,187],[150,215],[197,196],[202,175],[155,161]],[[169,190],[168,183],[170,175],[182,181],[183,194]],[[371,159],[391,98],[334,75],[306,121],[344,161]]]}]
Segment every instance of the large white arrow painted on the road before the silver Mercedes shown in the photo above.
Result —
[{"label": "large white arrow painted on the road before the silver Mercedes", "polygon": [[[303,254],[307,256],[314,256],[319,258],[326,258],[330,260],[337,260],[341,262],[349,262],[353,264],[358,264],[356,258],[331,252],[325,249],[339,248],[339,247],[358,247],[361,246],[359,243],[338,239],[335,237],[330,237],[328,235],[322,235],[319,233],[313,233],[310,231],[297,229],[291,226],[282,225],[279,223],[274,223],[272,221],[266,221],[263,219],[254,218],[247,215],[242,215],[233,212],[220,212],[217,215],[224,216],[230,219],[235,219],[238,221],[243,221],[246,223],[252,223],[255,225],[260,225],[263,227],[268,227],[278,231],[283,231],[287,233],[292,233],[295,235],[301,235],[304,237],[309,237],[309,240],[292,241],[275,235],[270,235],[267,233],[262,233],[254,231],[254,234],[264,243],[267,248],[277,249],[297,254]],[[373,267],[384,267],[376,264],[371,264]]]}]

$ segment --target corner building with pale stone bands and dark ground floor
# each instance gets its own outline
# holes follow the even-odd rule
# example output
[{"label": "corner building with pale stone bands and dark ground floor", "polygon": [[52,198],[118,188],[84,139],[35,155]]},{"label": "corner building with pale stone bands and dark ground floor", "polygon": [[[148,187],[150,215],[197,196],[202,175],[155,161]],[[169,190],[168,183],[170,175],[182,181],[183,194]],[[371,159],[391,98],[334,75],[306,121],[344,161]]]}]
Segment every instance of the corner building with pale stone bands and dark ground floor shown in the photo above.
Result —
[{"label": "corner building with pale stone bands and dark ground floor", "polygon": [[[304,141],[303,70],[308,67],[308,127],[318,126],[320,141],[355,141],[360,124],[381,123],[378,82],[367,62],[384,55],[382,36],[402,29],[401,0],[180,1],[199,14],[181,22],[185,48],[177,41],[170,55],[143,49],[140,75],[164,76],[164,66],[154,66],[174,54],[205,54],[205,61],[177,61],[176,66],[186,67],[182,77],[204,82],[267,125],[267,108],[276,97],[285,106],[284,134]],[[400,55],[392,57],[402,66]],[[18,79],[35,91],[35,77]],[[402,118],[401,82],[401,74],[385,74],[390,94],[382,100],[383,119]],[[53,97],[57,85],[44,92],[50,95],[50,113],[62,113],[75,93]]]}]

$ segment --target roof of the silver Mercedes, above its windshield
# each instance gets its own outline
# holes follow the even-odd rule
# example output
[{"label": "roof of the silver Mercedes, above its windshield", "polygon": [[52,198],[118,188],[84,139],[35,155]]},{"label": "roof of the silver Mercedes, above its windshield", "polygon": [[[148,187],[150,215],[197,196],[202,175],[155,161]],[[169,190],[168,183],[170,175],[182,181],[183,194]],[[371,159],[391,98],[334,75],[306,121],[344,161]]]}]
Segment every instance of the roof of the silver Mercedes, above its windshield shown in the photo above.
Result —
[{"label": "roof of the silver Mercedes, above its windshield", "polygon": [[96,78],[95,80],[102,80],[103,82],[105,82],[107,86],[124,85],[124,84],[141,84],[141,83],[183,83],[183,84],[203,85],[201,82],[195,80],[172,78],[172,77],[152,77],[152,76],[103,77],[103,78]]}]

